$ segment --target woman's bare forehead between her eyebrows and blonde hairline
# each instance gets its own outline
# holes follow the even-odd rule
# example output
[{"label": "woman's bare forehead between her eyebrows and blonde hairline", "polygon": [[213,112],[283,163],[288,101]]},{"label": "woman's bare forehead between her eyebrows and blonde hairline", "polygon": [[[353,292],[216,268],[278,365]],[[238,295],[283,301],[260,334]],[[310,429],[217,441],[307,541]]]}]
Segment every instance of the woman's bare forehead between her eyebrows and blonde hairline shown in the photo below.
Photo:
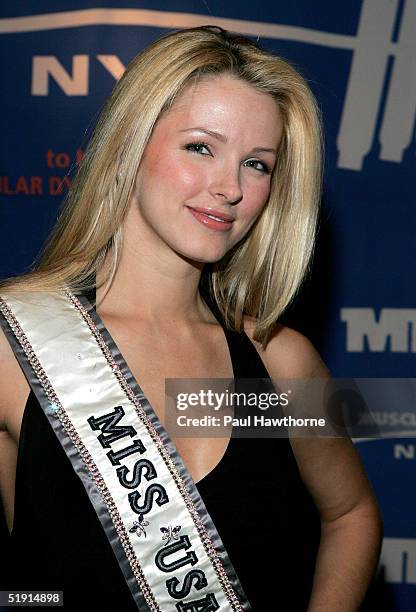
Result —
[{"label": "woman's bare forehead between her eyebrows and blonde hairline", "polygon": [[160,122],[170,130],[205,127],[229,138],[279,139],[282,118],[276,100],[232,75],[203,77],[190,84]]}]

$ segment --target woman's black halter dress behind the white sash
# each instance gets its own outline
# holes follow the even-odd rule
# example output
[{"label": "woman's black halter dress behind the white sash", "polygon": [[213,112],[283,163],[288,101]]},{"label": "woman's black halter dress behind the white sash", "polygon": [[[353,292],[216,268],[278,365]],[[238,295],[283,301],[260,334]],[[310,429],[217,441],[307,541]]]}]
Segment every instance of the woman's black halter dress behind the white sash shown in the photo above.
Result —
[{"label": "woman's black halter dress behind the white sash", "polygon": [[[224,331],[234,376],[268,377],[248,337]],[[197,488],[253,610],[305,612],[320,521],[289,441],[232,437],[220,463]],[[137,610],[84,487],[33,391],[21,428],[7,549],[1,554],[3,589],[63,590],[65,610]]]}]

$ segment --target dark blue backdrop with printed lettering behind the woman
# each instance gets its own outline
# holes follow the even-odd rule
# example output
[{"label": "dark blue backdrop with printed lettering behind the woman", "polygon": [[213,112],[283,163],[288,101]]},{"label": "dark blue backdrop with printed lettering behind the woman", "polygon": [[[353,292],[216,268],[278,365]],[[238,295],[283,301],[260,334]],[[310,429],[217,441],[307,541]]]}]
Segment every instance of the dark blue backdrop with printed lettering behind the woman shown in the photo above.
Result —
[{"label": "dark blue backdrop with printed lettering behind the woman", "polygon": [[[39,7],[3,0],[0,9],[0,277],[35,258],[129,60],[169,30],[218,24],[294,62],[323,112],[314,271],[286,320],[312,339],[334,376],[414,376],[416,0],[44,0]],[[414,438],[357,448],[385,519],[379,609],[414,611]]]}]

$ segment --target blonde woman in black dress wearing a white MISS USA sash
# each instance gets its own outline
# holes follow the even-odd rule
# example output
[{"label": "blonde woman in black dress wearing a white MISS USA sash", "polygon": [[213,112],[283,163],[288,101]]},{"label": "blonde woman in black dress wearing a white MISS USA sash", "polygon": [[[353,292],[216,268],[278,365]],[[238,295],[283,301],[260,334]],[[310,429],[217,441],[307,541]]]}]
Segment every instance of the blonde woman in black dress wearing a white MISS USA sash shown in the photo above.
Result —
[{"label": "blonde woman in black dress wearing a white MISS USA sash", "polygon": [[175,448],[160,424],[166,378],[328,378],[276,323],[320,157],[307,84],[246,38],[183,30],[130,64],[37,269],[1,292],[7,588],[63,589],[68,609],[358,609],[381,521],[349,440]]}]

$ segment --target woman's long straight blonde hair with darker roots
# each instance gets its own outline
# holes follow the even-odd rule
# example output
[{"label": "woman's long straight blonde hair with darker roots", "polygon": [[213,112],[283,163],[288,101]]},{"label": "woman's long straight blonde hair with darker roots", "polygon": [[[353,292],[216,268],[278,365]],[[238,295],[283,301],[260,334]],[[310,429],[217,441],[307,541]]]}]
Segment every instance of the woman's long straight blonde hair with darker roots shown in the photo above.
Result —
[{"label": "woman's long straight blonde hair with darker roots", "polygon": [[92,288],[106,258],[111,265],[103,283],[109,287],[137,168],[155,123],[195,79],[223,73],[273,96],[284,123],[268,202],[246,238],[210,275],[225,323],[241,331],[243,316],[255,317],[254,337],[265,345],[311,260],[322,181],[319,110],[290,63],[217,26],[171,33],[133,59],[101,113],[39,263],[3,288]]}]

